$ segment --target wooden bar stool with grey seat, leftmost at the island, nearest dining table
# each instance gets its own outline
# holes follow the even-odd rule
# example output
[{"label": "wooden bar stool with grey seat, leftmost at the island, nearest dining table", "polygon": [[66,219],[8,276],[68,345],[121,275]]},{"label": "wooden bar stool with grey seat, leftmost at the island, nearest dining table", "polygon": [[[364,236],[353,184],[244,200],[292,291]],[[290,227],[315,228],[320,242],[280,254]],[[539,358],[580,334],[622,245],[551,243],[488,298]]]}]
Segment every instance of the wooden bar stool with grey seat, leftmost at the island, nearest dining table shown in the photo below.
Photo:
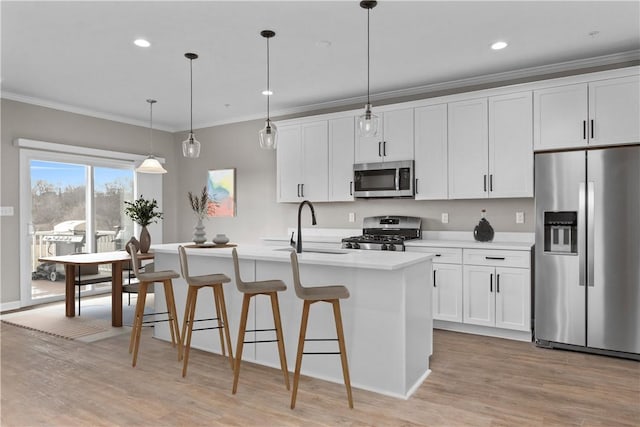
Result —
[{"label": "wooden bar stool with grey seat, leftmost at the island, nearest dining table", "polygon": [[[129,353],[133,351],[133,363],[132,366],[136,366],[138,359],[138,348],[140,347],[140,333],[142,331],[142,325],[148,323],[169,322],[169,331],[171,332],[171,345],[173,347],[178,345],[178,360],[182,359],[182,345],[180,341],[180,331],[178,329],[178,315],[176,313],[176,302],[173,296],[173,282],[172,279],[180,277],[178,273],[173,270],[154,271],[150,273],[141,273],[138,269],[140,262],[138,260],[138,254],[136,247],[129,243],[129,253],[131,254],[131,265],[133,267],[133,274],[138,279],[139,291],[138,301],[136,302],[136,311],[133,319],[133,328],[131,329],[131,339],[129,341]],[[164,285],[164,298],[167,304],[167,311],[163,313],[144,313],[145,302],[147,299],[147,288],[149,285],[153,285],[155,282],[160,282]],[[166,314],[167,319],[164,320],[144,320],[144,316],[156,316]]]}]

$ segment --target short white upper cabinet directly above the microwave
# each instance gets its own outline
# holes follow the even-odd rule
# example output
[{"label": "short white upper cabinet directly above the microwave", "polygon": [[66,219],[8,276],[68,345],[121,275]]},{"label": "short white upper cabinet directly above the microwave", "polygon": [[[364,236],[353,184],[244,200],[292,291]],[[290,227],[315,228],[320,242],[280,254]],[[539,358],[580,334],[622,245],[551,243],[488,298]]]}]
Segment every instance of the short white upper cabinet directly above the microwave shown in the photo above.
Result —
[{"label": "short white upper cabinet directly above the microwave", "polygon": [[413,160],[413,108],[378,114],[378,135],[356,137],[355,163]]}]

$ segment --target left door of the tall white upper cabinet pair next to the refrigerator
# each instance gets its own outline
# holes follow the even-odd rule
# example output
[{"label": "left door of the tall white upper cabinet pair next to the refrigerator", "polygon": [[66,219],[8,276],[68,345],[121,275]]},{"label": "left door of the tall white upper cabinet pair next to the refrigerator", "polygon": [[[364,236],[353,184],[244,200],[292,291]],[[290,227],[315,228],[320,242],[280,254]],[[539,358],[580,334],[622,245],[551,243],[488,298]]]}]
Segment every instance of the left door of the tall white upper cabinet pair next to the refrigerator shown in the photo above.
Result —
[{"label": "left door of the tall white upper cabinet pair next to the refrigerator", "polygon": [[449,198],[477,199],[488,191],[487,98],[449,103]]}]

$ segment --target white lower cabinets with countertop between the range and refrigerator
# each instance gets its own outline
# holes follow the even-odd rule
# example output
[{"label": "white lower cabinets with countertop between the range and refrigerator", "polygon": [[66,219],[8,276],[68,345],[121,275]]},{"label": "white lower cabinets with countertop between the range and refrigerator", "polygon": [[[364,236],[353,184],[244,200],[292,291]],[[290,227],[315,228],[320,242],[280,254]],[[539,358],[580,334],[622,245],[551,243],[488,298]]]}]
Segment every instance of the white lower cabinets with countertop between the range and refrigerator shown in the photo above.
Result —
[{"label": "white lower cabinets with countertop between the range and refrigerator", "polygon": [[509,333],[498,331],[520,331],[517,339],[527,339],[521,332],[531,331],[530,250],[407,246],[407,251],[434,256],[433,319],[451,322],[442,327],[506,338]]}]

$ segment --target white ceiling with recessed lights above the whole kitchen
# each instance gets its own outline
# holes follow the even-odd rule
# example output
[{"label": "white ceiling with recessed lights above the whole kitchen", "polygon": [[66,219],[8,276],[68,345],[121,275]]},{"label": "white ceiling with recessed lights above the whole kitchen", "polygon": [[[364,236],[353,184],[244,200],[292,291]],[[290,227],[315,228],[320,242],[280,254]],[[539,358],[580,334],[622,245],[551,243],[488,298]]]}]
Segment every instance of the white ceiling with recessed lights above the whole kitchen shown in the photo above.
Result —
[{"label": "white ceiling with recessed lights above the whole kitchen", "polygon": [[[272,29],[272,116],[366,99],[367,18],[356,0],[0,5],[3,98],[143,126],[145,100],[155,98],[154,127],[184,130],[184,53],[195,52],[194,128],[264,117],[266,42],[259,33]],[[151,47],[134,46],[138,37]],[[509,47],[489,49],[497,40]],[[320,46],[325,41],[330,46]],[[638,52],[639,1],[382,0],[371,12],[374,101],[566,61],[637,59]]]}]

